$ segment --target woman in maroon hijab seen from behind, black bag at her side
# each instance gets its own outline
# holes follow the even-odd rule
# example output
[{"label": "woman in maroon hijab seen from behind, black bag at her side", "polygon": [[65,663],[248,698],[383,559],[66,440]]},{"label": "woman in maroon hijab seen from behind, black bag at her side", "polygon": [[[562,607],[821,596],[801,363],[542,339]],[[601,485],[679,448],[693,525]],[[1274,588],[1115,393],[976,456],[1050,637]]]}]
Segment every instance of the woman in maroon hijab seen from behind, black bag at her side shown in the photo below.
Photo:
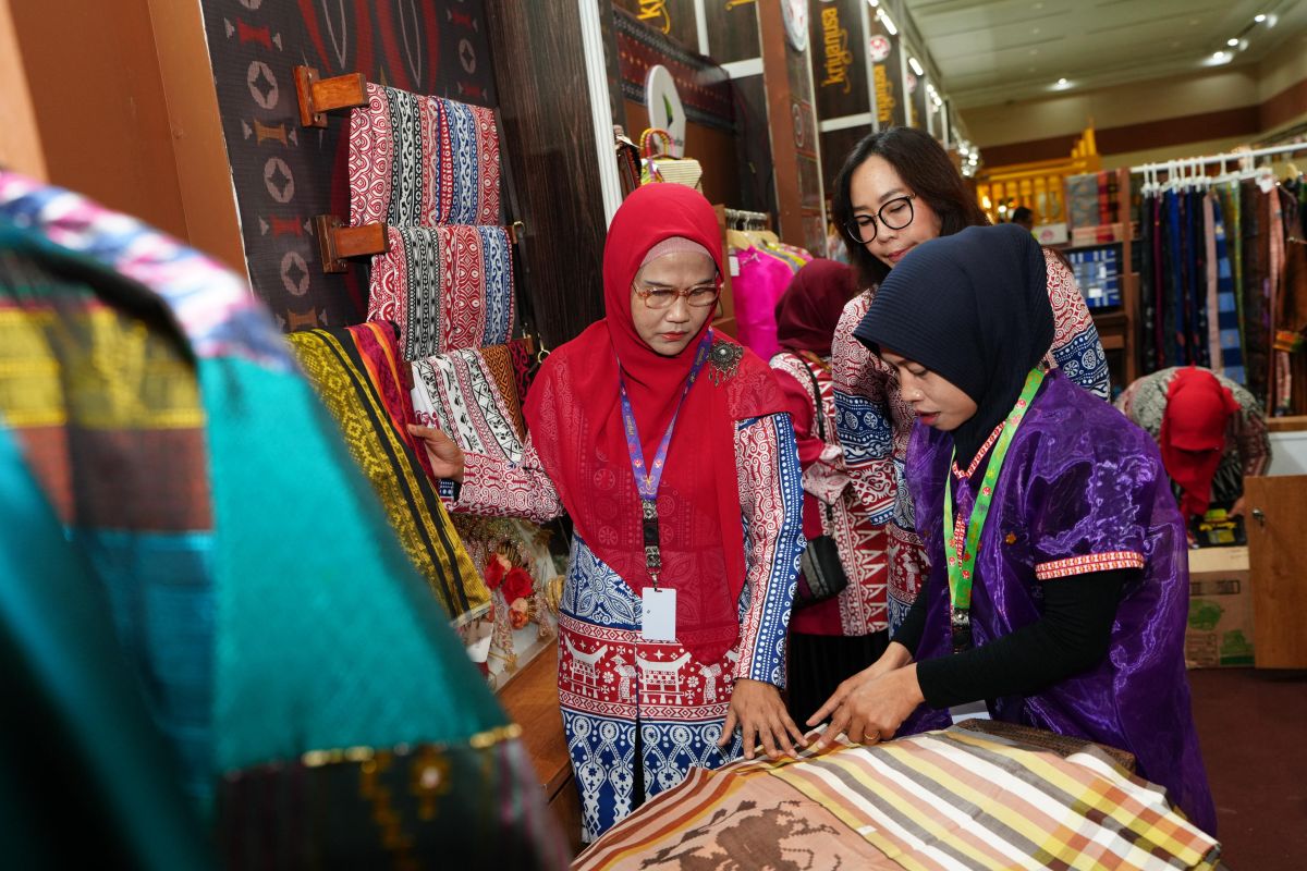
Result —
[{"label": "woman in maroon hijab seen from behind, black bag at her side", "polygon": [[844,304],[856,295],[851,266],[813,260],[776,304],[776,340],[783,350],[771,358],[771,367],[791,404],[799,440],[804,535],[834,538],[848,578],[835,597],[795,599],[788,704],[799,722],[821,708],[844,678],[876,662],[889,644],[884,624],[872,619],[876,603],[885,599],[885,525],[872,518],[851,486],[835,420],[830,346]]}]

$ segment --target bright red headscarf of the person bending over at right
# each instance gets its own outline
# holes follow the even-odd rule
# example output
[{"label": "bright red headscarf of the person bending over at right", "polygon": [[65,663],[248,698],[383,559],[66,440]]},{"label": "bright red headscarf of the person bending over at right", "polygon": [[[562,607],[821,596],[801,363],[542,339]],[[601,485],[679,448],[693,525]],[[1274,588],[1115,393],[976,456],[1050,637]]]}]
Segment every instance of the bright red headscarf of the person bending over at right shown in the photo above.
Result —
[{"label": "bright red headscarf of the person bending over at right", "polygon": [[1226,424],[1238,410],[1230,390],[1206,370],[1179,370],[1167,387],[1158,441],[1166,474],[1180,486],[1185,517],[1208,511],[1212,478],[1226,447]]}]

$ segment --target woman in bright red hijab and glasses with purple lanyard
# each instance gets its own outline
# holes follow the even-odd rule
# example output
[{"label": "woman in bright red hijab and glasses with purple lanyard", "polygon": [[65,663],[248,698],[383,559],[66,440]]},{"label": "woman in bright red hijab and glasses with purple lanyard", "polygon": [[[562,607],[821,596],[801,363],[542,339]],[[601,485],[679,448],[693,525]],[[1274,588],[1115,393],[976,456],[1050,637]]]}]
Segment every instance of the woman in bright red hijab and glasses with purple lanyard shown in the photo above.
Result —
[{"label": "woman in bright red hijab and glasses with purple lanyard", "polygon": [[708,201],[638,188],[608,231],[604,320],[532,384],[523,461],[414,428],[460,509],[572,520],[558,695],[586,841],[691,765],[802,743],[779,693],[804,547],[793,427],[767,366],[710,328],[720,286]]}]

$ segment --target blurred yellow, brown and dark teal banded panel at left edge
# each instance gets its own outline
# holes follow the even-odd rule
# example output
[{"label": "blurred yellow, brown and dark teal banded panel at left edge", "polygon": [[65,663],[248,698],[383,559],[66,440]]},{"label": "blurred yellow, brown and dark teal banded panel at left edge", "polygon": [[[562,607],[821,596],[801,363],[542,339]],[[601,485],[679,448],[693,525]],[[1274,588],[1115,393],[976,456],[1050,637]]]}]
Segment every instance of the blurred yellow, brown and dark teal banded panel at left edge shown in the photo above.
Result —
[{"label": "blurred yellow, brown and dark teal banded panel at left edge", "polygon": [[[144,320],[118,311],[81,272],[0,252],[0,418],[68,539],[94,556],[184,786],[204,800],[213,515],[195,363],[157,303]],[[124,307],[149,302],[111,286]]]}]

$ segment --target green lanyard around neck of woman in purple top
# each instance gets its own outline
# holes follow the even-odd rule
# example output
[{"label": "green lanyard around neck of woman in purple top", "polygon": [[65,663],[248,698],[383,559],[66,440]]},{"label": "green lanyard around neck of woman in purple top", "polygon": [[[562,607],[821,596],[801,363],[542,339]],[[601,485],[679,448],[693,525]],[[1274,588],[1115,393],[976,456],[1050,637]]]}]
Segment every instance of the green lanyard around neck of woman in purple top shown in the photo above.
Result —
[{"label": "green lanyard around neck of woman in purple top", "polygon": [[989,465],[980,482],[980,492],[976,495],[975,508],[971,509],[971,518],[967,521],[967,533],[961,548],[954,543],[953,525],[953,462],[957,457],[957,449],[949,456],[949,470],[944,484],[944,548],[949,556],[949,624],[953,629],[954,653],[961,653],[971,646],[971,580],[980,545],[980,530],[984,529],[985,517],[989,516],[989,503],[993,500],[999,473],[1002,471],[1002,461],[1008,456],[1008,445],[1012,444],[1012,436],[1021,426],[1021,419],[1026,417],[1030,401],[1035,398],[1043,380],[1044,373],[1038,367],[1030,370],[1030,375],[1026,376],[1026,387],[1021,390],[1017,405],[1008,414],[999,441],[993,445],[993,453],[989,454]]}]

